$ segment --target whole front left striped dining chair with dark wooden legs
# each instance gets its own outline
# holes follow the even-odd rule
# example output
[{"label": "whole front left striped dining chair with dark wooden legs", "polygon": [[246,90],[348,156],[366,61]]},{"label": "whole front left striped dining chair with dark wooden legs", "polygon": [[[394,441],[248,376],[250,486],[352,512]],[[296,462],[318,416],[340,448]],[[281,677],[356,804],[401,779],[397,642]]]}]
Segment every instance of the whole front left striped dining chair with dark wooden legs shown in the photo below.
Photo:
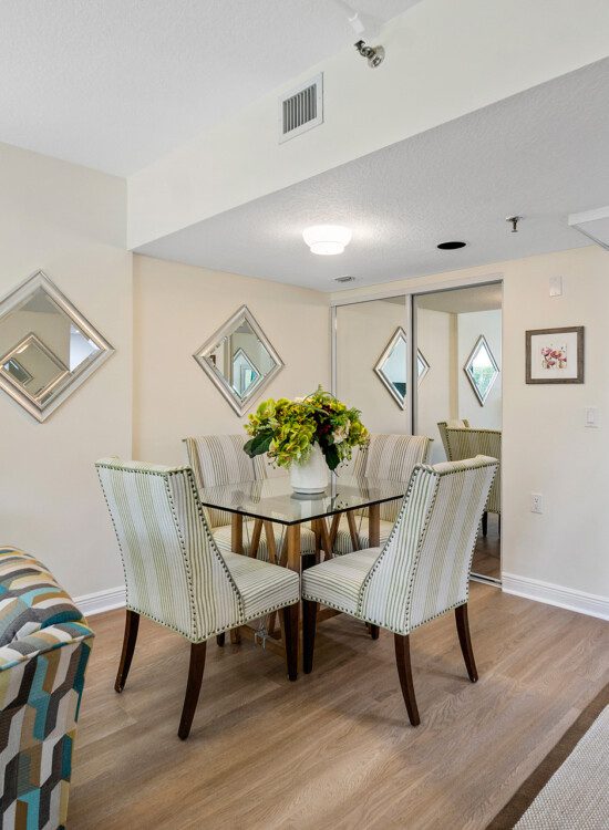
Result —
[{"label": "whole front left striped dining chair with dark wooden legs", "polygon": [[188,737],[206,641],[281,610],[288,676],[297,678],[299,578],[287,568],[221,552],[209,531],[193,471],[102,458],[95,464],[123,560],[126,620],[114,688],[131,667],[140,616],[190,643],[178,736]]}]

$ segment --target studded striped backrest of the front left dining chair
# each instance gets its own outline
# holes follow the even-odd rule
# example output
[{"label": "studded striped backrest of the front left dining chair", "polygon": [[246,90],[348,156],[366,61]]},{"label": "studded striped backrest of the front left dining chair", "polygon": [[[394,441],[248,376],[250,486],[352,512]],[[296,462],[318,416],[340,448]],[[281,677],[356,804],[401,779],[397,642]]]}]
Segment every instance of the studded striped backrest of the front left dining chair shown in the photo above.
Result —
[{"label": "studded striped backrest of the front left dining chair", "polygon": [[126,606],[190,642],[238,623],[241,598],[208,529],[189,467],[96,463],[121,549]]}]

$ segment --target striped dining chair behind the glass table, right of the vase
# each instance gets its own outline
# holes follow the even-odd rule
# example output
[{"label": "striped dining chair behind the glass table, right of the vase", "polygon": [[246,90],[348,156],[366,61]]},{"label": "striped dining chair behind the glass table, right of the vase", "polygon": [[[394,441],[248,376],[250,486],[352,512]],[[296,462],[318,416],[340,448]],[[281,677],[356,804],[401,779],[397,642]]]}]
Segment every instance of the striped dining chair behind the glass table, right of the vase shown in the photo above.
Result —
[{"label": "striped dining chair behind the glass table, right of the vase", "polygon": [[[431,444],[432,438],[424,435],[371,435],[368,446],[360,449],[355,456],[353,475],[407,484],[414,467],[426,463]],[[400,501],[385,501],[380,506],[381,546],[388,540],[399,511]],[[370,547],[368,509],[351,512],[351,517],[343,516],[340,520],[333,546],[337,556]]]}]

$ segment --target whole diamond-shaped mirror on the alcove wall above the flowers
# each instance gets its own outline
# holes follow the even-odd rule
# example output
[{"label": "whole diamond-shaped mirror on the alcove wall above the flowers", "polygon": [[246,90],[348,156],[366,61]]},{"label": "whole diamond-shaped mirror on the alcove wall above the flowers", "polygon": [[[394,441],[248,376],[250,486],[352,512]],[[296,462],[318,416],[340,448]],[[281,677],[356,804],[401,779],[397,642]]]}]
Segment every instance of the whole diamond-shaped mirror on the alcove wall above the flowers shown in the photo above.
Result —
[{"label": "whole diamond-shaped mirror on the alcove wall above the flowers", "polygon": [[251,406],[283,367],[247,305],[241,305],[193,356],[237,415]]}]

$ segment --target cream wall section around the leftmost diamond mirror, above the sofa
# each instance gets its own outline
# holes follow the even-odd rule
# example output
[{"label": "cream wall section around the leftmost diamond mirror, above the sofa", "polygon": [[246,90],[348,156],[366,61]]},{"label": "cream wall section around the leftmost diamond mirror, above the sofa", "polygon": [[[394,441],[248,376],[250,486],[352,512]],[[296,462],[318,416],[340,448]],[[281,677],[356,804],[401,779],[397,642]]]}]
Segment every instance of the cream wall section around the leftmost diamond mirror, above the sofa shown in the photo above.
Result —
[{"label": "cream wall section around the leftmost diamond mirror, above the sofa", "polygon": [[131,450],[125,183],[7,145],[0,168],[0,295],[42,269],[116,349],[44,424],[0,394],[0,544],[82,595],[122,582],[93,463]]}]

